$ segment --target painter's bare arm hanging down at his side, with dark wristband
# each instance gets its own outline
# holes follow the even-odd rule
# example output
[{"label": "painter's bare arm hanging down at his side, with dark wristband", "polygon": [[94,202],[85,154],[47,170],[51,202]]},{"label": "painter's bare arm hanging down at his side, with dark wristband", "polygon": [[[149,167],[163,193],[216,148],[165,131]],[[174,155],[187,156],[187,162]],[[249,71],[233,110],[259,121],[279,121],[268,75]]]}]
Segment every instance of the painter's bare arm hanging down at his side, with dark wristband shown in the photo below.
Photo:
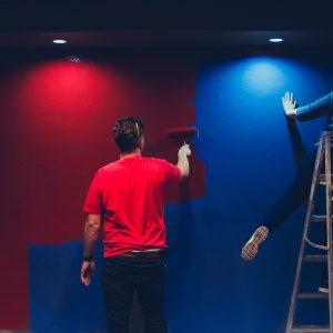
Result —
[{"label": "painter's bare arm hanging down at his side, with dark wristband", "polygon": [[81,266],[81,281],[84,285],[89,285],[91,276],[94,274],[95,264],[93,260],[93,250],[99,240],[102,228],[101,214],[87,214],[84,224],[84,250],[83,262]]}]

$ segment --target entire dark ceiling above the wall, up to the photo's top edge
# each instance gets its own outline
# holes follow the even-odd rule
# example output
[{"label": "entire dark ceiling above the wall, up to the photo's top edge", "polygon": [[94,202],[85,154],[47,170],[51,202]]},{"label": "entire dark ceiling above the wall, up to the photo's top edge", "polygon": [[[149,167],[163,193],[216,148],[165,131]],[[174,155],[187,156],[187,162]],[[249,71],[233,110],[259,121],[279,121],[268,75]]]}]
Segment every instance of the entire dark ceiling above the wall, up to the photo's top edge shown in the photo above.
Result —
[{"label": "entire dark ceiling above the wall, up to the photo's top edge", "polygon": [[[333,1],[0,0],[1,49],[333,47]],[[54,46],[54,38],[68,40]],[[270,46],[273,47],[273,46]]]}]

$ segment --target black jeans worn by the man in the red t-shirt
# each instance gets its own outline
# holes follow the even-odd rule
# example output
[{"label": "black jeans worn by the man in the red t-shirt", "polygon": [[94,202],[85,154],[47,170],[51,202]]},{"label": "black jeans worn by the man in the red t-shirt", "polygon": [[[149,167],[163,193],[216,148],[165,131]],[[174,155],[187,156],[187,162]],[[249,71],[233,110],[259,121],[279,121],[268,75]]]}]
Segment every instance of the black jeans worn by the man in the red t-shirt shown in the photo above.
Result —
[{"label": "black jeans worn by the man in the red t-shirt", "polygon": [[104,259],[102,285],[108,333],[128,333],[134,291],[147,333],[167,333],[164,319],[165,253],[117,255]]}]

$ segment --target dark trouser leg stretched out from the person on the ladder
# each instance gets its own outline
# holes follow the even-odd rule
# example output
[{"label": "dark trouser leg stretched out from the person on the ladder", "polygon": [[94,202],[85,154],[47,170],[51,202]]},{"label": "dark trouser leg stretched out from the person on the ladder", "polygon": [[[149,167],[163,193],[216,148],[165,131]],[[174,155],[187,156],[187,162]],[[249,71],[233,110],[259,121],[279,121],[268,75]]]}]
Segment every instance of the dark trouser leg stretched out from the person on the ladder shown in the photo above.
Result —
[{"label": "dark trouser leg stretched out from the person on the ladder", "polygon": [[312,175],[317,148],[314,147],[304,158],[290,186],[275,204],[264,215],[260,225],[265,225],[270,232],[282,224],[286,218],[300,208],[310,196]]}]

